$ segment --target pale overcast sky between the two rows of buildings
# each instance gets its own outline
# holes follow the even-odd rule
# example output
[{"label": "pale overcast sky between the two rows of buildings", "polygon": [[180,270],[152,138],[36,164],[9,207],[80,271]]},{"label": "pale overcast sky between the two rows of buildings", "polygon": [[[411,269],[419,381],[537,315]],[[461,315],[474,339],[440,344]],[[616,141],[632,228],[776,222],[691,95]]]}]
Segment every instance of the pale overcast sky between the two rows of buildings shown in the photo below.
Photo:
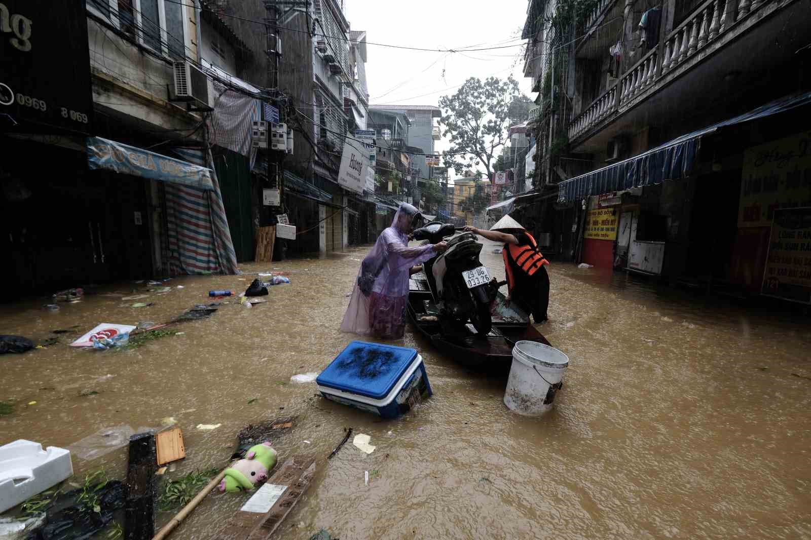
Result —
[{"label": "pale overcast sky between the two rows of buildings", "polygon": [[[523,58],[517,58],[523,50],[518,45],[526,0],[344,0],[344,6],[351,28],[367,32],[366,73],[372,105],[437,105],[440,96],[453,94],[469,77],[506,79],[510,73],[522,92],[535,96],[530,94],[530,79],[524,79]],[[372,43],[424,49],[514,46],[446,53]],[[439,141],[437,150],[448,146],[448,141]]]}]

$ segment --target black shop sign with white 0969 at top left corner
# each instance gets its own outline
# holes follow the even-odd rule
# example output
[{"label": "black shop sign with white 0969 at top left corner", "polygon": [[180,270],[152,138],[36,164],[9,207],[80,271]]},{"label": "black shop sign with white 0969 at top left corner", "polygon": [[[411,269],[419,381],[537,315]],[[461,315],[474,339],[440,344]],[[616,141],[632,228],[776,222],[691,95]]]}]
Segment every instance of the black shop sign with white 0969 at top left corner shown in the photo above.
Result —
[{"label": "black shop sign with white 0969 at top left corner", "polygon": [[[0,0],[0,128],[92,132],[84,2]],[[54,130],[56,128],[56,130]]]}]

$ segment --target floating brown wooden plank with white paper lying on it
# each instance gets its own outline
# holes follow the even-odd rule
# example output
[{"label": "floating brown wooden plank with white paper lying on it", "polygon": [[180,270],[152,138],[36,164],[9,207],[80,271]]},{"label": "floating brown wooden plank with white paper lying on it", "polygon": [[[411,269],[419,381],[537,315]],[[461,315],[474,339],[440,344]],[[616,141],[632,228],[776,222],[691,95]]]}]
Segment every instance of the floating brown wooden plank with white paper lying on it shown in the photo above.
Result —
[{"label": "floating brown wooden plank with white paper lying on it", "polygon": [[315,474],[315,459],[293,456],[228,521],[217,540],[266,540],[301,499]]}]

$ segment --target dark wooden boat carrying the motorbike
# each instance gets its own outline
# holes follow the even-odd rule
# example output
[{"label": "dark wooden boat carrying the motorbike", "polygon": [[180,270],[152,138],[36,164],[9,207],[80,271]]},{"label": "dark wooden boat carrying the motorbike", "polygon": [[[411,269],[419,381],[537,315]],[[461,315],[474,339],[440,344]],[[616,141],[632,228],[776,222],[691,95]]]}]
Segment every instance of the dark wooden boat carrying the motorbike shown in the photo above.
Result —
[{"label": "dark wooden boat carrying the motorbike", "polygon": [[444,335],[427,281],[415,275],[410,280],[407,311],[414,328],[454,361],[476,370],[506,373],[513,363],[516,341],[551,344],[529,324],[529,315],[517,306],[506,306],[505,299],[499,293],[493,302],[493,327],[487,336],[479,336],[472,324],[459,328],[453,336]]}]

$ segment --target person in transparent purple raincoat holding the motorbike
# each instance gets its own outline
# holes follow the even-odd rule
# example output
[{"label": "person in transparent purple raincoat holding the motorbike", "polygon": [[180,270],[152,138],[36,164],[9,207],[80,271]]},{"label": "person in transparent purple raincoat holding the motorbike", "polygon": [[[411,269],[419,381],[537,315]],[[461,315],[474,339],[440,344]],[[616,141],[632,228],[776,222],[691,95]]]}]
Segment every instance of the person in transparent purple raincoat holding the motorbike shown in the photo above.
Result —
[{"label": "person in transparent purple raincoat holding the motorbike", "polygon": [[409,247],[409,235],[423,225],[423,215],[401,204],[392,226],[384,229],[363,259],[346,308],[341,332],[400,339],[405,334],[409,276],[448,248],[445,242]]}]

